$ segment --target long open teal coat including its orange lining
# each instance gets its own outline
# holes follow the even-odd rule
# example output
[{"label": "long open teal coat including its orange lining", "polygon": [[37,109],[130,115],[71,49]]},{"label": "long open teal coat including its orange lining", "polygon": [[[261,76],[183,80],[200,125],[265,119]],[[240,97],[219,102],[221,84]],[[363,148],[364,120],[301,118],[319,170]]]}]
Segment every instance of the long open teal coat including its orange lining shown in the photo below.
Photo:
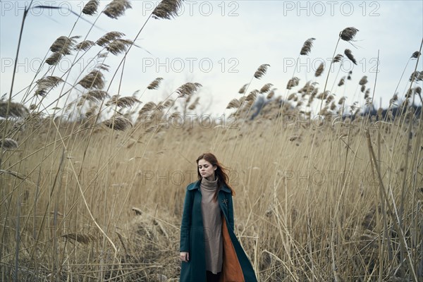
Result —
[{"label": "long open teal coat including its orange lining", "polygon": [[[180,252],[189,252],[182,262],[180,282],[206,282],[204,228],[201,209],[200,180],[188,185],[180,226]],[[221,282],[257,282],[254,269],[233,233],[233,201],[231,190],[223,186],[218,194],[222,211],[223,266]]]}]

